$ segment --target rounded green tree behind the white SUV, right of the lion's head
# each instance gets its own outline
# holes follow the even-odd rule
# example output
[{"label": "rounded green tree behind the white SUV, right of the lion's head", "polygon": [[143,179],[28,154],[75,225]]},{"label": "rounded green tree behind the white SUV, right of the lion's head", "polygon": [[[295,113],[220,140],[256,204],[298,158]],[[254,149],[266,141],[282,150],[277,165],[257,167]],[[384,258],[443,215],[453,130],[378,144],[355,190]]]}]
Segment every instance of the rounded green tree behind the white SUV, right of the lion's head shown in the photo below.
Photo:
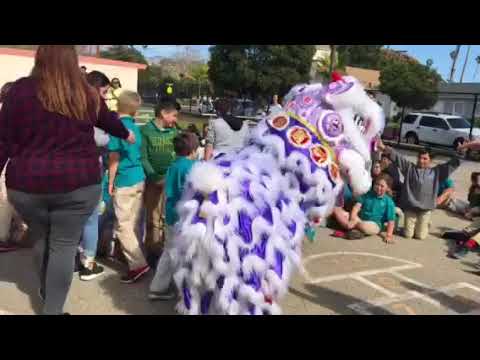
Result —
[{"label": "rounded green tree behind the white SUV, right of the lion's head", "polygon": [[389,95],[399,107],[423,110],[437,102],[441,81],[441,76],[425,65],[394,60],[383,66],[380,91]]}]

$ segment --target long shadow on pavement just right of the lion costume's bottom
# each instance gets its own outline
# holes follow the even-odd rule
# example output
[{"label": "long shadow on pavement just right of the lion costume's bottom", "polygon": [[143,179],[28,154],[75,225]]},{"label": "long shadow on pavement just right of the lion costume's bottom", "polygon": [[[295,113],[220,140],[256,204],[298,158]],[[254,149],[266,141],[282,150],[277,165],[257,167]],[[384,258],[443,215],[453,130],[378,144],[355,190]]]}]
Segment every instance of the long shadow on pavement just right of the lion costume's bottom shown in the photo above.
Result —
[{"label": "long shadow on pavement just right of the lion costume's bottom", "polygon": [[[304,287],[308,293],[304,293],[293,288],[290,288],[289,291],[295,296],[298,296],[310,303],[328,308],[339,315],[359,315],[356,311],[350,309],[348,306],[357,303],[365,303],[363,300],[353,296],[345,295],[322,286],[305,284]],[[375,315],[393,315],[391,312],[382,308],[374,308],[373,311],[375,312]]]}]

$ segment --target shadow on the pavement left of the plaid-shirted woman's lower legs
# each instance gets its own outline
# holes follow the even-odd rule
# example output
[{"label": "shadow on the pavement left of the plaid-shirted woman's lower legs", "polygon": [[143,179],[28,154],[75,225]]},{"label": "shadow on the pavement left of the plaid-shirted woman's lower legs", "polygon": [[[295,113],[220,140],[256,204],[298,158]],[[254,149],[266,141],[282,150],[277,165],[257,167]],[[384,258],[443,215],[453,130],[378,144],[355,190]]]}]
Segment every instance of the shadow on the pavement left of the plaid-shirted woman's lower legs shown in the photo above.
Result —
[{"label": "shadow on the pavement left of the plaid-shirted woman's lower legs", "polygon": [[[42,302],[38,296],[40,280],[31,249],[20,249],[0,254],[0,283],[2,282],[14,284],[20,292],[29,297],[30,306],[34,313],[41,313]],[[0,306],[2,305],[2,298],[0,298]],[[8,300],[18,301],[18,299]]]}]

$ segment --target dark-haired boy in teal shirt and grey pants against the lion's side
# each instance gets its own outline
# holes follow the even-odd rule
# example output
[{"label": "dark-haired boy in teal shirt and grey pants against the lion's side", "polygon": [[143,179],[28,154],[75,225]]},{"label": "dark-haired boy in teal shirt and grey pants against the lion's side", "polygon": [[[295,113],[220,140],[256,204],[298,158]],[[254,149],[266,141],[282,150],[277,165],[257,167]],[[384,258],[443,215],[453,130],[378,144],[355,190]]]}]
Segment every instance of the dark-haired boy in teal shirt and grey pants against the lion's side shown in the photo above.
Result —
[{"label": "dark-haired boy in teal shirt and grey pants against the lion's side", "polygon": [[184,132],[173,140],[177,159],[168,168],[165,179],[165,229],[166,250],[158,261],[155,277],[150,285],[150,300],[170,300],[175,297],[172,283],[172,268],[168,247],[173,241],[174,226],[178,221],[176,206],[180,201],[185,181],[195,164],[196,151],[198,148],[198,137],[191,132]]}]

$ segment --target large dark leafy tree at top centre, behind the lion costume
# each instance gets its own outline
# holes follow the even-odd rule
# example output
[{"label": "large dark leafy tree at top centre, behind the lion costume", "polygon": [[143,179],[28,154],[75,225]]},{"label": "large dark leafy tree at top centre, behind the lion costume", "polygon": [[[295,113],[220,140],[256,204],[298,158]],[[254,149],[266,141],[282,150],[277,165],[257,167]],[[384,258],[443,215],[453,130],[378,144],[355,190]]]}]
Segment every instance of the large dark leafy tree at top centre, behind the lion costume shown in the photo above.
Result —
[{"label": "large dark leafy tree at top centre, behind the lion costume", "polygon": [[208,75],[217,95],[265,100],[308,82],[314,45],[215,45]]}]

